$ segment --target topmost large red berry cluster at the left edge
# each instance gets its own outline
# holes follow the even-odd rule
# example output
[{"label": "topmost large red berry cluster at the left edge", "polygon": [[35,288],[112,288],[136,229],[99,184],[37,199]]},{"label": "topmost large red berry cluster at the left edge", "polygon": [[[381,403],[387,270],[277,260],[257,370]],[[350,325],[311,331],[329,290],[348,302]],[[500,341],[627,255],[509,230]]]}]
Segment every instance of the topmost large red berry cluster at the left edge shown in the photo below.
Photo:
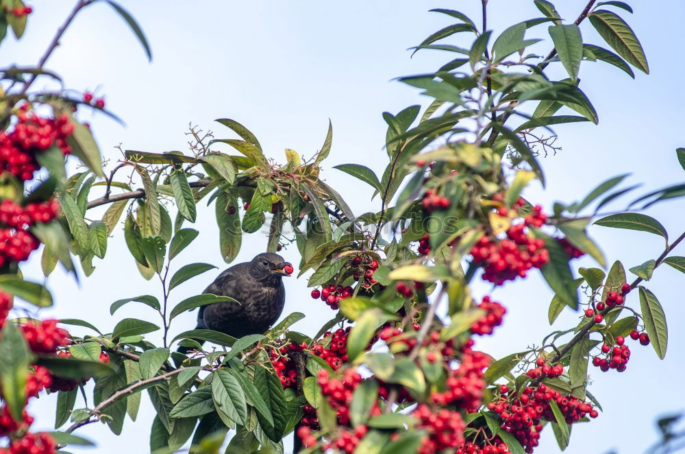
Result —
[{"label": "topmost large red berry cluster at the left edge", "polygon": [[40,167],[36,153],[47,150],[53,144],[60,147],[62,153],[71,153],[66,137],[73,132],[74,126],[66,115],[50,119],[20,112],[17,119],[12,132],[0,132],[1,170],[9,171],[20,180],[31,180],[34,171]]}]

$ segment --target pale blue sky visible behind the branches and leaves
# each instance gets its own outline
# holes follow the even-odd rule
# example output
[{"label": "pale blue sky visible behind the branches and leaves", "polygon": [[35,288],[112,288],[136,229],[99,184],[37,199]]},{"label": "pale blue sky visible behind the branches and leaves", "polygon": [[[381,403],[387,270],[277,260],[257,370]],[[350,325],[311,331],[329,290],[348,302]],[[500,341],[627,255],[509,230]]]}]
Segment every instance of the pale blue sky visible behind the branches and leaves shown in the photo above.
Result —
[{"label": "pale blue sky visible behind the branches and leaves", "polygon": [[[572,21],[584,2],[564,1],[558,10]],[[635,15],[621,12],[645,49],[650,75],[636,71],[636,80],[607,64],[584,62],[581,87],[599,113],[599,126],[575,123],[555,128],[562,150],[542,160],[547,188],[530,187],[529,200],[551,208],[556,201],[579,200],[597,184],[612,176],[630,173],[627,184],[642,183],[647,192],[684,180],[685,173],[675,158],[675,148],[684,144],[680,131],[682,91],[673,83],[683,71],[681,22],[685,7],[677,0],[633,2]],[[229,130],[213,123],[232,118],[252,130],[270,158],[283,162],[284,149],[311,156],[325,138],[329,119],[334,140],[332,152],[323,164],[323,178],[338,188],[356,214],[377,210],[371,189],[334,165],[360,163],[381,174],[386,160],[383,150],[386,125],[381,113],[398,112],[410,104],[427,105],[413,88],[395,77],[434,71],[447,62],[445,53],[425,51],[410,58],[407,49],[417,45],[437,29],[449,25],[447,16],[429,13],[431,8],[454,8],[479,23],[479,2],[469,1],[359,1],[269,2],[236,1],[122,1],[145,29],[152,47],[153,61],[147,62],[136,38],[125,23],[104,2],[91,5],[79,14],[66,32],[48,68],[62,75],[64,84],[77,91],[104,95],[108,109],[125,126],[102,115],[82,112],[90,121],[105,157],[115,161],[123,148],[148,152],[187,150],[186,132],[190,124],[212,130],[217,138],[232,137]],[[49,43],[53,31],[69,13],[72,2],[35,2],[25,38],[16,42],[5,38],[0,46],[3,66],[35,64]],[[539,17],[532,1],[490,1],[488,28],[501,31],[514,21]],[[582,25],[584,41],[602,45],[589,23]],[[545,25],[527,37],[547,38]],[[466,44],[466,43],[462,43]],[[540,47],[540,53],[549,47]],[[545,52],[546,53],[546,52]],[[558,65],[558,64],[557,64]],[[562,77],[562,69],[550,67]],[[557,71],[557,72],[555,72]],[[34,88],[53,87],[36,82]],[[93,193],[95,195],[95,192]],[[626,200],[628,200],[626,198]],[[620,210],[624,205],[616,204]],[[660,219],[671,237],[680,235],[682,200],[650,208],[646,214]],[[98,219],[101,211],[89,212]],[[206,262],[219,267],[175,289],[173,300],[198,294],[223,270],[219,254],[213,209],[199,209],[195,228],[201,235],[179,255],[175,267]],[[188,226],[188,225],[186,225]],[[613,230],[599,226],[590,235],[603,247],[608,263],[621,259],[628,267],[656,258],[663,241],[645,232]],[[248,261],[266,247],[262,232],[246,236],[238,259]],[[685,246],[673,252],[685,256]],[[299,263],[297,248],[282,255]],[[23,267],[26,276],[42,280],[40,256]],[[160,285],[144,280],[123,242],[123,232],[115,230],[108,243],[108,256],[95,260],[92,276],[76,283],[62,272],[47,280],[55,306],[42,311],[44,318],[82,318],[101,331],[111,331],[124,317],[153,319],[147,307],[129,304],[110,316],[112,302],[140,294],[159,296]],[[595,266],[590,259],[579,266]],[[296,273],[297,274],[297,270]],[[678,329],[685,316],[679,283],[682,274],[665,265],[645,283],[662,302],[671,326],[666,359],[660,361],[651,347],[631,344],[633,355],[626,372],[603,374],[590,369],[590,391],[604,412],[591,424],[573,427],[566,453],[622,454],[645,451],[657,438],[655,419],[683,410],[680,381],[685,358],[685,333]],[[293,329],[314,334],[332,317],[323,302],[312,300],[306,276],[286,280],[286,308],[307,315]],[[479,339],[482,348],[494,357],[538,344],[552,329],[564,329],[577,322],[577,314],[564,311],[550,328],[547,307],[551,292],[537,274],[491,292],[484,283],[473,285],[473,293],[493,298],[508,307],[505,323],[496,335]],[[627,304],[639,307],[636,292]],[[175,319],[172,333],[195,326],[195,313]],[[86,331],[79,328],[74,333]],[[55,396],[42,396],[32,405],[35,429],[51,429]],[[78,407],[79,403],[77,403]],[[149,440],[153,409],[147,397],[138,422],[125,422],[125,436],[116,437],[99,424],[77,433],[97,440],[97,449],[71,448],[74,453],[142,452]],[[286,452],[288,452],[286,444]],[[133,450],[133,451],[132,451]],[[142,450],[142,451],[141,451]],[[543,433],[537,453],[556,452],[551,431]]]}]

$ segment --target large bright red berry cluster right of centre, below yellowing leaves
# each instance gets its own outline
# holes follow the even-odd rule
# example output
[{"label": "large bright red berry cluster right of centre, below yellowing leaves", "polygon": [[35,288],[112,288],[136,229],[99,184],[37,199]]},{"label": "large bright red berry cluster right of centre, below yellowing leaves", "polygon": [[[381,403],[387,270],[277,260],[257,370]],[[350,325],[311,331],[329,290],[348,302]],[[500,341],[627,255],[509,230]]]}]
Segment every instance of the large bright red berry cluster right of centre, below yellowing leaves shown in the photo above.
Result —
[{"label": "large bright red berry cluster right of centre, below yellowing leaves", "polygon": [[525,277],[528,270],[549,261],[545,241],[529,237],[524,228],[524,224],[511,226],[506,239],[483,235],[475,243],[471,255],[475,263],[484,265],[484,280],[502,285],[506,280]]}]

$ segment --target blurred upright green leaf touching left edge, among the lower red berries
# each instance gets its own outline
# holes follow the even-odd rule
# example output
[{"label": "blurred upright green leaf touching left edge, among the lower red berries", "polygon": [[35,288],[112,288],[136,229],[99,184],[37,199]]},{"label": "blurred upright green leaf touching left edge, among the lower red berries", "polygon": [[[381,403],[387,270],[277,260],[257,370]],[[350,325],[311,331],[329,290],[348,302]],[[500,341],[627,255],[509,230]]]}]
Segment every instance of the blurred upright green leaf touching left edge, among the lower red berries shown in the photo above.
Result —
[{"label": "blurred upright green leaf touching left edge, among the lower red berries", "polygon": [[5,322],[2,328],[0,357],[0,388],[3,399],[12,418],[23,421],[29,347],[18,326],[12,322]]}]

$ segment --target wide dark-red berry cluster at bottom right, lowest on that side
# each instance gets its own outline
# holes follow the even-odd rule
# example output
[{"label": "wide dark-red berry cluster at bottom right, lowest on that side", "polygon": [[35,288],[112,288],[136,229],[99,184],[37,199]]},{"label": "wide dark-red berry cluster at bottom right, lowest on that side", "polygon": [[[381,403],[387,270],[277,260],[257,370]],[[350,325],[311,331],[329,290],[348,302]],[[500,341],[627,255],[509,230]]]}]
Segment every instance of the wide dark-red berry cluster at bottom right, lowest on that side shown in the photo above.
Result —
[{"label": "wide dark-red berry cluster at bottom right, lowest on that side", "polygon": [[488,409],[499,414],[501,428],[514,435],[526,453],[532,453],[534,447],[538,446],[540,431],[543,429],[540,420],[556,420],[549,406],[551,401],[556,401],[568,424],[573,424],[586,415],[597,417],[597,410],[592,405],[573,396],[562,396],[560,392],[544,384],[525,387],[519,398],[516,398],[516,390],[510,390],[507,385],[501,385],[499,391],[501,396],[488,403]]}]

